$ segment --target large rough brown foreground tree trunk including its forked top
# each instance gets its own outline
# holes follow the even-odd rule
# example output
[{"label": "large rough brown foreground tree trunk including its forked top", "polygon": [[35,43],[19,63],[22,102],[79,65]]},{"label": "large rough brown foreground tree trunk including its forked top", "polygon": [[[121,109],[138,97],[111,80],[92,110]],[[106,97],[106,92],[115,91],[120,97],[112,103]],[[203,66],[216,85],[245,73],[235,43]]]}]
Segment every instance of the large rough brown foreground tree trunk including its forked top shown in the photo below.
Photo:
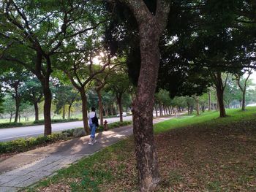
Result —
[{"label": "large rough brown foreground tree trunk including its forked top", "polygon": [[159,70],[159,39],[167,24],[170,1],[157,0],[155,15],[143,0],[121,0],[132,10],[140,34],[140,75],[133,102],[133,133],[140,191],[154,191],[159,183],[157,152],[154,145],[154,93]]}]

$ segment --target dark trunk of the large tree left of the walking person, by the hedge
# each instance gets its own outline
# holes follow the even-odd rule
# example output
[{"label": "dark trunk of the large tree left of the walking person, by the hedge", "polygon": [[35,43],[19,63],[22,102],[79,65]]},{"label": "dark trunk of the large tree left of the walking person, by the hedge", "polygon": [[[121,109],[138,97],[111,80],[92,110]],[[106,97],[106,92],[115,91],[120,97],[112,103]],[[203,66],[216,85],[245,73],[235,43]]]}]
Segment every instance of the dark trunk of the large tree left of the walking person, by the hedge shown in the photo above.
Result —
[{"label": "dark trunk of the large tree left of the walking person, by the hedge", "polygon": [[50,120],[50,107],[51,107],[51,92],[49,87],[49,80],[46,80],[43,87],[43,93],[45,96],[45,104],[44,104],[44,119],[45,119],[45,136],[50,135],[52,128],[51,128],[51,120]]}]

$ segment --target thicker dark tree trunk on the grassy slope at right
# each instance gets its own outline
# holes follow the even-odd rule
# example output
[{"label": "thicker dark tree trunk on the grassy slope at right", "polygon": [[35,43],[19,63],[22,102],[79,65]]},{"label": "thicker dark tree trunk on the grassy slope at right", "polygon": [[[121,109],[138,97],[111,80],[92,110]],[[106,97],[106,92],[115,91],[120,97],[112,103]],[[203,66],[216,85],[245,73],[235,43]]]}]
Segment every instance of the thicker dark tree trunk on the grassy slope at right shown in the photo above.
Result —
[{"label": "thicker dark tree trunk on the grassy slope at right", "polygon": [[225,118],[226,111],[225,111],[225,105],[224,105],[224,86],[222,82],[222,76],[220,72],[217,72],[216,76],[216,91],[217,91],[217,100],[219,105],[219,117]]}]

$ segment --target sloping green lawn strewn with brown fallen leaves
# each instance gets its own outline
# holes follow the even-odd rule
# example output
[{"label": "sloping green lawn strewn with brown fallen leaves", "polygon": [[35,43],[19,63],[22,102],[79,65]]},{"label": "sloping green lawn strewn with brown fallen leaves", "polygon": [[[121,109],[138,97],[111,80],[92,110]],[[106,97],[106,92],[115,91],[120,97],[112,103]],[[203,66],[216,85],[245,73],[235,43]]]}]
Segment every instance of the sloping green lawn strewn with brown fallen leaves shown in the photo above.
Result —
[{"label": "sloping green lawn strewn with brown fallen leaves", "polygon": [[[184,116],[155,125],[157,191],[255,191],[256,108]],[[124,150],[125,149],[125,150]],[[132,137],[25,191],[136,191]]]}]

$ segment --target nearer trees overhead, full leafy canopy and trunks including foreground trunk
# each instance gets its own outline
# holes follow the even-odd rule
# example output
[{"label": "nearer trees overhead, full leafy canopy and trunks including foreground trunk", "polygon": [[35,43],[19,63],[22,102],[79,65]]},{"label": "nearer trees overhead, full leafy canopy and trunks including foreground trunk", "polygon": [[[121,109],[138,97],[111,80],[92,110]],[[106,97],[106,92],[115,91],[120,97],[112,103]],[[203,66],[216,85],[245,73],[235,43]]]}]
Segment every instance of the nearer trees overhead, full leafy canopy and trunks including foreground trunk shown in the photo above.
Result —
[{"label": "nearer trees overhead, full leafy canopy and trunks including foreground trunk", "polygon": [[[114,85],[129,85],[126,70],[118,67],[127,64],[136,90],[132,112],[140,191],[153,191],[159,183],[152,112],[163,101],[156,89],[168,91],[171,98],[193,96],[199,109],[199,96],[214,87],[224,118],[230,76],[245,95],[241,76],[255,69],[253,1],[12,0],[0,6],[1,70],[20,69],[37,77],[45,135],[51,134],[54,78],[79,92],[89,133],[86,92],[94,85],[100,98],[100,90],[116,77]],[[124,90],[119,91],[121,109]],[[102,108],[100,102],[101,115]]]}]

